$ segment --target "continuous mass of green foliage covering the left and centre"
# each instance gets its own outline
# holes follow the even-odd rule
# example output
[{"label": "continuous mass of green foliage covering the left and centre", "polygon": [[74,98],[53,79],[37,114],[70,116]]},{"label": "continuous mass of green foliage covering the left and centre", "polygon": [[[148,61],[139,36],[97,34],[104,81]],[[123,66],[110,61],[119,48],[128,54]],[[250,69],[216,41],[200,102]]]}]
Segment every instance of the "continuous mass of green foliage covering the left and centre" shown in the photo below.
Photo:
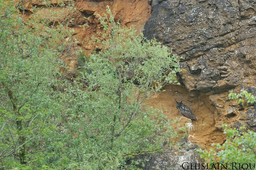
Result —
[{"label": "continuous mass of green foliage covering the left and centre", "polygon": [[142,102],[177,83],[177,55],[122,28],[108,9],[95,39],[102,50],[81,55],[77,77],[66,80],[59,56],[72,20],[25,19],[24,4],[12,1],[0,10],[0,169],[128,169],[127,153],[170,144],[175,131]]}]

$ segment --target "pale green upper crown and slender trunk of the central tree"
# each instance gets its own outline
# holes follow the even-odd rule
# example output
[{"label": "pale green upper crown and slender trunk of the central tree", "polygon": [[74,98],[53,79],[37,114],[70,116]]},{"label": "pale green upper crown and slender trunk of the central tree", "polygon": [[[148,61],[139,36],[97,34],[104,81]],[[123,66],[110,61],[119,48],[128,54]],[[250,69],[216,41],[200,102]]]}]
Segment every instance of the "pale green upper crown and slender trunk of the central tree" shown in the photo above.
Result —
[{"label": "pale green upper crown and slender trunk of the central tree", "polygon": [[112,117],[112,150],[115,137],[129,125],[140,104],[164,84],[177,83],[175,74],[180,67],[177,55],[170,55],[155,40],[144,40],[142,34],[136,36],[131,28],[122,28],[109,9],[107,13],[109,17],[100,18],[104,30],[101,38],[105,38],[101,41],[103,49],[90,56],[83,75],[88,88],[100,89],[101,94],[113,100],[115,109],[107,114]]}]

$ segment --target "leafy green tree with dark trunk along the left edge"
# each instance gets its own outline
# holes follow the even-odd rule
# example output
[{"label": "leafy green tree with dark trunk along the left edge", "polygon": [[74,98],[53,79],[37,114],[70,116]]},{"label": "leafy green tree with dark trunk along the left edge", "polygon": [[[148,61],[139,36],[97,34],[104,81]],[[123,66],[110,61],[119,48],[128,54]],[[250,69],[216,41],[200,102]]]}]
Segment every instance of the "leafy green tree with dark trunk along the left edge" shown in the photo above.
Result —
[{"label": "leafy green tree with dark trunk along the left edge", "polygon": [[27,164],[33,141],[51,129],[59,110],[51,85],[60,76],[58,57],[70,35],[67,25],[42,20],[38,8],[24,18],[27,2],[0,1],[0,161],[7,167],[17,159]]}]

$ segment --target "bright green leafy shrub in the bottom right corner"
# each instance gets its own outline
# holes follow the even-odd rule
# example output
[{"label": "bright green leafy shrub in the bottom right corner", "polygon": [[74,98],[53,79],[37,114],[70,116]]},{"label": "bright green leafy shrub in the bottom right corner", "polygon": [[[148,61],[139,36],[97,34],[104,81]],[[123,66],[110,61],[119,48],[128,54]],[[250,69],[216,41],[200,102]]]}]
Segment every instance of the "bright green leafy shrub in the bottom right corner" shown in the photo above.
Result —
[{"label": "bright green leafy shrub in the bottom right corner", "polygon": [[223,124],[222,127],[227,136],[224,144],[212,144],[213,149],[210,151],[198,149],[197,151],[202,154],[201,157],[212,163],[220,162],[223,165],[227,163],[229,168],[232,168],[232,162],[237,165],[239,163],[241,165],[253,164],[256,161],[256,133],[252,130],[245,130],[244,127],[240,127],[243,130],[242,133],[228,128],[227,124]]}]

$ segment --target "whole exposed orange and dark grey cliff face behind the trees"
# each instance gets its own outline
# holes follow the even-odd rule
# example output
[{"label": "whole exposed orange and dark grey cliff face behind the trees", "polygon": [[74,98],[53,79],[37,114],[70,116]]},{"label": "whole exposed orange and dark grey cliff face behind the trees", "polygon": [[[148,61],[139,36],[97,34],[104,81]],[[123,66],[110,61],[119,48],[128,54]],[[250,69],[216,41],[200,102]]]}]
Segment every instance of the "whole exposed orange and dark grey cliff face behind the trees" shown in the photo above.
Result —
[{"label": "whole exposed orange and dark grey cliff face behind the trees", "polygon": [[[25,15],[37,12],[52,24],[74,18],[70,29],[74,29],[77,43],[71,44],[69,54],[62,57],[69,67],[63,70],[68,78],[75,75],[78,66],[74,49],[89,53],[97,48],[86,40],[100,31],[97,14],[105,12],[109,5],[123,26],[135,25],[140,32],[146,23],[144,34],[148,39],[156,38],[173,53],[185,57],[178,75],[182,85],[165,86],[166,91],[153,96],[148,104],[161,107],[168,118],[175,119],[181,117],[175,100],[183,100],[197,118],[192,122],[189,141],[202,148],[209,148],[213,142],[223,143],[222,123],[256,129],[256,104],[242,107],[228,100],[231,91],[247,89],[256,95],[255,1],[75,0],[76,10],[72,12],[56,6],[57,1],[51,3],[52,8],[33,11],[32,7],[44,4],[41,0],[29,1]],[[56,16],[47,16],[47,10],[55,10]],[[85,29],[79,27],[85,23]],[[181,117],[181,123],[185,122],[187,118]]]}]

